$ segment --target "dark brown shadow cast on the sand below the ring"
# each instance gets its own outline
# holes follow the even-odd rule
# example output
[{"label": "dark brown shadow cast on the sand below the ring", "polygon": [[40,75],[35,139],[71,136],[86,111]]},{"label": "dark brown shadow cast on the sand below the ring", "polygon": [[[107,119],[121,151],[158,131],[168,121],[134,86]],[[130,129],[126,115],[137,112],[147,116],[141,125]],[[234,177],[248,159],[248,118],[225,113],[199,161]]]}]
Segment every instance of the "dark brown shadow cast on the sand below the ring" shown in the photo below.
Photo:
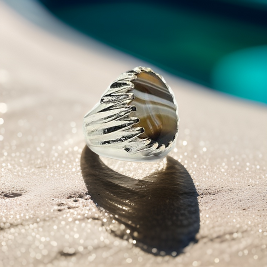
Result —
[{"label": "dark brown shadow cast on the sand below the ring", "polygon": [[137,180],[110,169],[85,146],[81,170],[92,200],[125,225],[130,230],[129,237],[141,249],[175,256],[196,241],[196,188],[190,174],[174,158],[167,156],[164,170]]}]

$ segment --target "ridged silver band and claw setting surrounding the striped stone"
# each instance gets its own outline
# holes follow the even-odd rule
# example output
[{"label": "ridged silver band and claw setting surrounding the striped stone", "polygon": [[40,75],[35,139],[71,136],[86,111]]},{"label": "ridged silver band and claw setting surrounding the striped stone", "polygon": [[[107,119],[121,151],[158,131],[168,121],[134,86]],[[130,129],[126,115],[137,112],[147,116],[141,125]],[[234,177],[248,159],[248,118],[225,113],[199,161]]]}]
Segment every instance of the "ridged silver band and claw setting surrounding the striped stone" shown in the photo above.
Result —
[{"label": "ridged silver band and claw setting surrounding the striped stone", "polygon": [[[131,116],[136,107],[129,103],[134,94],[132,83],[141,72],[152,72],[159,77],[173,98],[177,115],[177,130],[168,145],[159,144],[150,138],[139,138],[145,131],[142,127],[133,127],[139,118]],[[100,156],[126,161],[149,161],[165,157],[174,147],[178,136],[178,106],[171,88],[164,78],[150,68],[136,67],[122,73],[105,91],[100,101],[89,111],[83,121],[83,131],[88,147]]]}]

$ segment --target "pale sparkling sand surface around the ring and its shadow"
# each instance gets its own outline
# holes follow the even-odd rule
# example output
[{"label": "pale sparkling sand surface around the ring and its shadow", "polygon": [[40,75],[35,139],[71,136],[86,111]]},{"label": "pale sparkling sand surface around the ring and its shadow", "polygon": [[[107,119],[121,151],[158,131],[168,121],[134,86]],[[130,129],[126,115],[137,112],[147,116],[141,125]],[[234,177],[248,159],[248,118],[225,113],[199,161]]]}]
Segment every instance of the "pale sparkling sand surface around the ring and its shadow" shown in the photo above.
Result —
[{"label": "pale sparkling sand surface around the ring and its shadow", "polygon": [[[267,266],[266,106],[164,74],[56,20],[51,34],[3,3],[0,18],[1,267]],[[199,194],[198,242],[177,257],[109,234],[95,204],[78,197],[87,191],[83,116],[139,65],[162,74],[175,93],[181,121],[172,156]]]}]

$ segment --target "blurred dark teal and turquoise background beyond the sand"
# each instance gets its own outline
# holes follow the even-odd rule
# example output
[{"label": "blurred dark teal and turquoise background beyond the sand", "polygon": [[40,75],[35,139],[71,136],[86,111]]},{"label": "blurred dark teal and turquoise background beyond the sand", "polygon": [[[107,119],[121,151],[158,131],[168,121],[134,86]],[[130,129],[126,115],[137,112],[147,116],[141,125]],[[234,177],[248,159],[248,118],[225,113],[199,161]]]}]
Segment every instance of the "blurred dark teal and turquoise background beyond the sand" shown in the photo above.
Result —
[{"label": "blurred dark teal and turquoise background beyond the sand", "polygon": [[267,103],[267,0],[36,2],[83,34],[174,75]]}]

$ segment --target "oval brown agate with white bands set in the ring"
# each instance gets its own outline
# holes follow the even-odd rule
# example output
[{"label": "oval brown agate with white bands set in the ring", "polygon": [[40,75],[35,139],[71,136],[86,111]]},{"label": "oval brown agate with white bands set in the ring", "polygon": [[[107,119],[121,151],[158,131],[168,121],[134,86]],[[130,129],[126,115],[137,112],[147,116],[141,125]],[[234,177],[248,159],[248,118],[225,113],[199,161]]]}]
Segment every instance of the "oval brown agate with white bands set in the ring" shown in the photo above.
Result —
[{"label": "oval brown agate with white bands set in the ring", "polygon": [[143,127],[145,132],[139,138],[151,138],[159,145],[174,140],[178,118],[176,106],[166,84],[153,72],[136,74],[132,81],[134,100],[129,105],[136,107],[132,117],[138,117],[139,123],[134,127]]}]

